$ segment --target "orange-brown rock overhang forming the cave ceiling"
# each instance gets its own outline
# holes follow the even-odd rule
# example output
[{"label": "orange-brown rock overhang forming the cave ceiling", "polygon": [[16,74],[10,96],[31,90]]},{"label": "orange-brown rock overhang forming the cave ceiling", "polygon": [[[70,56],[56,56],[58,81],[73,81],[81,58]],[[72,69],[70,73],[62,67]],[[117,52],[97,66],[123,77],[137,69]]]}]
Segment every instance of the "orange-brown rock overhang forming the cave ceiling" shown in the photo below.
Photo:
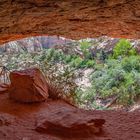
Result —
[{"label": "orange-brown rock overhang forming the cave ceiling", "polygon": [[31,34],[140,37],[139,0],[1,0],[1,43]]}]

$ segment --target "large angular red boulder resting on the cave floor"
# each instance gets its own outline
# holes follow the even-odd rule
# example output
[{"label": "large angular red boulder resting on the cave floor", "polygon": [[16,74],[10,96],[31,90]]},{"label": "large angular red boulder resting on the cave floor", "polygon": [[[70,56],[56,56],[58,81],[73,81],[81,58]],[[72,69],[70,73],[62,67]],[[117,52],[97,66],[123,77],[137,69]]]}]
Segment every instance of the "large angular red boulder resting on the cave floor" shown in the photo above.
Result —
[{"label": "large angular red boulder resting on the cave floor", "polygon": [[41,102],[48,98],[48,85],[37,68],[10,73],[9,95],[19,102]]}]

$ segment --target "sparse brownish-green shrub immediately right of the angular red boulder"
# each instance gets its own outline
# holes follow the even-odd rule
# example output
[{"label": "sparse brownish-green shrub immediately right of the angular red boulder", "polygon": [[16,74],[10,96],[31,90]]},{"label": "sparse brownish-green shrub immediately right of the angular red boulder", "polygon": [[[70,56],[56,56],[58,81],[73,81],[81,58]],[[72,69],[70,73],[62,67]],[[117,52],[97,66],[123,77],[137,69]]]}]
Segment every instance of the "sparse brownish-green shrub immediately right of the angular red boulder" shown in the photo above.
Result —
[{"label": "sparse brownish-green shrub immediately right of the angular red boulder", "polygon": [[53,65],[47,60],[45,61],[44,66],[43,72],[47,81],[49,81],[49,86],[51,86],[50,96],[53,96],[53,98],[68,99],[71,102],[74,102],[75,91],[78,87],[75,79],[80,73],[75,73],[75,71],[69,66],[60,66],[59,64]]}]

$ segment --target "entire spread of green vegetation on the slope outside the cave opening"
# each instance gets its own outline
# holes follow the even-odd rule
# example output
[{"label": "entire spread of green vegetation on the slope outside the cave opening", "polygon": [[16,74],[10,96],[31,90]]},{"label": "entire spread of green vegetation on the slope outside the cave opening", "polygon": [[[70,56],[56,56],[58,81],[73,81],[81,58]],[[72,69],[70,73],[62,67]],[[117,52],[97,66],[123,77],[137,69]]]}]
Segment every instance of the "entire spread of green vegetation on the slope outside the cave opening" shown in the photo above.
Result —
[{"label": "entire spread of green vegetation on the slope outside the cave opening", "polygon": [[[73,50],[72,50],[73,49]],[[128,40],[121,39],[112,54],[97,52],[89,41],[79,43],[80,52],[62,49],[44,49],[36,54],[23,52],[6,59],[10,70],[39,67],[45,74],[53,98],[69,98],[77,104],[104,109],[96,99],[117,97],[117,103],[130,105],[140,96],[140,56]],[[82,89],[76,79],[83,77],[81,70],[92,69],[91,86]]]}]

